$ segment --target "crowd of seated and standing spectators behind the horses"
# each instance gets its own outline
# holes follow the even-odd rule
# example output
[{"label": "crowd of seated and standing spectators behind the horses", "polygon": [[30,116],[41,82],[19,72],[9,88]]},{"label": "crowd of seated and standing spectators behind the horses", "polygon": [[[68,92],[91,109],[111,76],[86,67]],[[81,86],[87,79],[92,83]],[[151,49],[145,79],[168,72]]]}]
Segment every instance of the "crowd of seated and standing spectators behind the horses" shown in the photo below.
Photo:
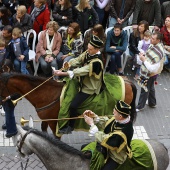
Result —
[{"label": "crowd of seated and standing spectators behind the horses", "polygon": [[[52,74],[51,66],[59,69],[64,61],[79,56],[87,50],[90,37],[96,35],[104,42],[101,48],[104,63],[107,54],[111,54],[110,73],[122,75],[121,54],[129,48],[129,55],[134,59],[140,52],[139,42],[152,25],[163,34],[165,68],[170,72],[169,16],[170,1],[165,0],[0,0],[0,37],[5,41],[7,58],[14,64],[14,58],[18,57],[8,52],[9,43],[15,46],[11,29],[18,28],[22,33],[35,30],[36,61],[40,62],[40,71],[48,77]],[[105,29],[115,24],[116,28],[106,35]],[[133,28],[129,42],[123,31],[128,25]],[[61,27],[65,29],[60,30]],[[16,39],[20,42],[24,37]],[[18,56],[22,55],[21,50],[16,50]],[[14,69],[22,72],[22,69],[16,70],[15,65]]]}]

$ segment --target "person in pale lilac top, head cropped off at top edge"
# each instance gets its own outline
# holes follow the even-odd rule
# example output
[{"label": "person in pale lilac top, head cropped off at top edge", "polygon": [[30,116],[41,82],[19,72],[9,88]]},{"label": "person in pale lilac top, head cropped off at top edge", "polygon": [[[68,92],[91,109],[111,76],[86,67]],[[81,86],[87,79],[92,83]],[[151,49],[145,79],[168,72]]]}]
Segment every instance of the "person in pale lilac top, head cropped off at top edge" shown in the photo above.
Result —
[{"label": "person in pale lilac top, head cropped off at top edge", "polygon": [[109,1],[110,0],[95,0],[94,9],[96,10],[96,12],[99,16],[99,23],[100,24],[103,23],[104,14],[105,14],[104,8],[109,3]]}]

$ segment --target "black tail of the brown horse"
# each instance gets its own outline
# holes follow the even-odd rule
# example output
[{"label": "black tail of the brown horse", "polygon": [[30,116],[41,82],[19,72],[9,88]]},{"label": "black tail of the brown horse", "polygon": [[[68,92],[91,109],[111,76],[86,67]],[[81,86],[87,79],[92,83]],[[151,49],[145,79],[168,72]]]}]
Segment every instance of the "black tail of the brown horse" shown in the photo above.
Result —
[{"label": "black tail of the brown horse", "polygon": [[131,121],[134,123],[136,121],[136,116],[137,116],[137,112],[136,112],[137,88],[136,88],[135,84],[133,84],[132,82],[130,82],[130,84],[131,84],[132,92],[133,92],[133,99],[132,99],[132,102],[130,103],[130,106],[131,106]]}]

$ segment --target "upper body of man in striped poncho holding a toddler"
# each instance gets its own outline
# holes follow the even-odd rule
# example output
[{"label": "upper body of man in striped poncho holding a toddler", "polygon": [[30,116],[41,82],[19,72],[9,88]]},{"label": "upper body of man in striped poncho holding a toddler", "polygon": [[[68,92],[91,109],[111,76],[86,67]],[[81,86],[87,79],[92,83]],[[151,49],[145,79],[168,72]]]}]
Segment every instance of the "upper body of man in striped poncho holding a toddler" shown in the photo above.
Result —
[{"label": "upper body of man in striped poncho holding a toddler", "polygon": [[145,90],[145,92],[148,91],[148,81],[150,79],[155,80],[156,75],[160,74],[163,69],[165,57],[164,47],[161,43],[161,40],[161,33],[156,31],[152,35],[151,45],[146,51],[146,54],[139,54],[140,60],[142,61],[142,65],[140,68],[140,78],[138,80],[138,84]]}]

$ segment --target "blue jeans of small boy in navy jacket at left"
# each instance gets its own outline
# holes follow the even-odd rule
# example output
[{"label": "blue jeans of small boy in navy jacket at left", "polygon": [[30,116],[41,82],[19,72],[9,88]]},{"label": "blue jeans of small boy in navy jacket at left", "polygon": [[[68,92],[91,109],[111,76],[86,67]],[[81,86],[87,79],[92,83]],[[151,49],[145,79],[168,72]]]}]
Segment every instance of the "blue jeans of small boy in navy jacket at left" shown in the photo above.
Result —
[{"label": "blue jeans of small boy in navy jacket at left", "polygon": [[14,68],[17,72],[21,72],[23,74],[29,74],[26,67],[27,67],[27,62],[20,61],[17,58],[14,60]]}]

